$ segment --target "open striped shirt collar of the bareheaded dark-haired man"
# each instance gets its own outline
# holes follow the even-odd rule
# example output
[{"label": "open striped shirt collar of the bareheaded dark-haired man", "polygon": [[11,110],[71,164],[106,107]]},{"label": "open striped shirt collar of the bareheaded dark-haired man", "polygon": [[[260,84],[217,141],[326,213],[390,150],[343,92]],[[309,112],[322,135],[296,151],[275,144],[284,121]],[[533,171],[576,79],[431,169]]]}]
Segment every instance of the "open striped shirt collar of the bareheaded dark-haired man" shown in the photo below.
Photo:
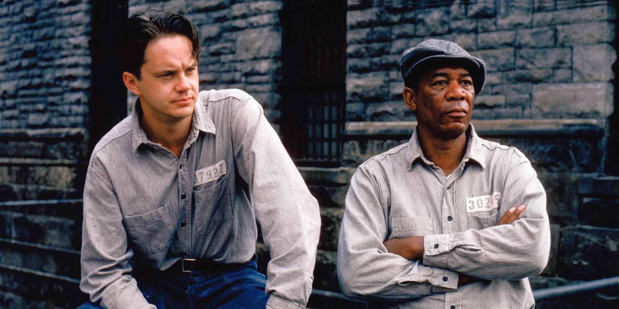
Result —
[{"label": "open striped shirt collar of the bareheaded dark-haired man", "polygon": [[[196,141],[199,132],[212,133],[215,134],[215,124],[210,120],[209,115],[207,114],[204,106],[202,106],[201,96],[198,96],[196,100],[196,106],[194,106],[193,114],[191,115],[191,132],[189,132],[189,137],[187,138],[189,144]],[[133,103],[133,109],[131,111],[131,127],[132,127],[132,149],[134,152],[137,151],[140,145],[146,144],[151,146],[158,146],[158,144],[150,142],[149,138],[146,136],[144,129],[142,129],[142,125],[140,125],[140,116],[142,114],[142,106],[140,104],[140,98],[136,98],[136,101]]]}]

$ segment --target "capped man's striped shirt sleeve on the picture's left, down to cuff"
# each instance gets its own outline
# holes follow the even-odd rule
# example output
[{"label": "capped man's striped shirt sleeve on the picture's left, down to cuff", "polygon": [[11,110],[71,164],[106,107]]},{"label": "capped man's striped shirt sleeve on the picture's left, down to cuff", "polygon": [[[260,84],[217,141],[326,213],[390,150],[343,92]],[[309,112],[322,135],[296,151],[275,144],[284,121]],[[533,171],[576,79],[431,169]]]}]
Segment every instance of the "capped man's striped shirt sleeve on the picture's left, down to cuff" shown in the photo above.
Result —
[{"label": "capped man's striped shirt sleeve on the picture's left, down to cuff", "polygon": [[346,197],[337,249],[342,292],[361,300],[401,301],[457,289],[458,274],[388,253],[387,217],[375,177],[358,167]]}]

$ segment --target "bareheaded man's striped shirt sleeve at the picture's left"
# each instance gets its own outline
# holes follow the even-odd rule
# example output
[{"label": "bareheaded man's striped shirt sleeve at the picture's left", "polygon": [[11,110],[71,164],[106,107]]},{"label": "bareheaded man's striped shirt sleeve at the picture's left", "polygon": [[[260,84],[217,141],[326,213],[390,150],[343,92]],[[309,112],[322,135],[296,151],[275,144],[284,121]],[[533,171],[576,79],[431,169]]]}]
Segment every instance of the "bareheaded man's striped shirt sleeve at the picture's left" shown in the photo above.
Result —
[{"label": "bareheaded man's striped shirt sleeve at the picture's left", "polygon": [[93,156],[84,187],[80,289],[103,308],[154,309],[129,275],[133,252],[118,198],[105,166]]}]

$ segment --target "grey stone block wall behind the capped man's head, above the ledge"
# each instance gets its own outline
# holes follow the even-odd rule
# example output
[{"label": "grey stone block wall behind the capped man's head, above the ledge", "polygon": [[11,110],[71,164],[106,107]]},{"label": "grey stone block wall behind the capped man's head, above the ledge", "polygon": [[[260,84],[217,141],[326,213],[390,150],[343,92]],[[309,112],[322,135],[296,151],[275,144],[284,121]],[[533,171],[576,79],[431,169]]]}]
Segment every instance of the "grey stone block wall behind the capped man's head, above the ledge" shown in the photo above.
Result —
[{"label": "grey stone block wall behind the capped man's head, above the ledge", "polygon": [[486,62],[473,119],[606,119],[613,111],[612,2],[354,0],[348,10],[348,121],[414,120],[398,62],[428,38]]}]

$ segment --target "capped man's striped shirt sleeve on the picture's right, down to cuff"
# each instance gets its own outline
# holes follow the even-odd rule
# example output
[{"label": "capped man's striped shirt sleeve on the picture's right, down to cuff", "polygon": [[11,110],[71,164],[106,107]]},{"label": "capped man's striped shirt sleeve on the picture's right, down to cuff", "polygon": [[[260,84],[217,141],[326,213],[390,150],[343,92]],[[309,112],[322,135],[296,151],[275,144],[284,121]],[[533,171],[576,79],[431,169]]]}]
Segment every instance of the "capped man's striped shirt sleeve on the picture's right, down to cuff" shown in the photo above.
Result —
[{"label": "capped man's striped shirt sleeve on the picture's right, down to cuff", "polygon": [[[525,205],[512,224],[424,238],[423,263],[488,280],[516,280],[542,272],[550,253],[546,194],[520,151],[509,159],[497,218]],[[436,246],[438,245],[438,246]]]}]

